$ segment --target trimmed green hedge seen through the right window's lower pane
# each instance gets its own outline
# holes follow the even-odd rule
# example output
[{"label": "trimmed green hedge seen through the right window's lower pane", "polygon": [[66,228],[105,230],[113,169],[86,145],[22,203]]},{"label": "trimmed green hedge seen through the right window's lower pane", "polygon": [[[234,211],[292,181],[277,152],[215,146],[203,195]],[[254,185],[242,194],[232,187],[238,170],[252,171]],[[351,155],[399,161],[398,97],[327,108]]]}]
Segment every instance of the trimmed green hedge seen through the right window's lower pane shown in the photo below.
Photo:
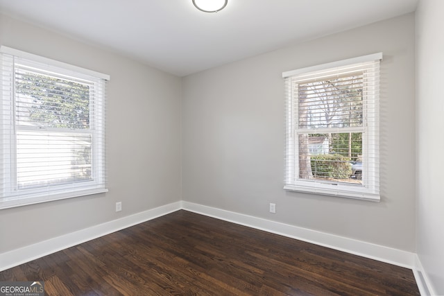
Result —
[{"label": "trimmed green hedge seen through the right window's lower pane", "polygon": [[339,154],[311,156],[311,171],[314,177],[348,179],[352,174],[350,158]]}]

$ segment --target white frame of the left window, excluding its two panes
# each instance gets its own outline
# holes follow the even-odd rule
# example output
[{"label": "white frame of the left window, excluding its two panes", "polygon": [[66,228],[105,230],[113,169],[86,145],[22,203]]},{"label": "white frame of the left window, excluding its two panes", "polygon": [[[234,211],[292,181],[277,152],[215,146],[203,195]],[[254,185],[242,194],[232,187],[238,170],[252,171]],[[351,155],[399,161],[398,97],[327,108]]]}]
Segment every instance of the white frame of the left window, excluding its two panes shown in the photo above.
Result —
[{"label": "white frame of the left window, excluding its two panes", "polygon": [[[0,81],[3,83],[3,86],[0,87],[0,109],[2,110],[0,114],[0,157],[2,159],[0,172],[3,176],[0,180],[0,209],[107,192],[104,142],[105,82],[110,80],[110,76],[39,55],[11,49],[7,46],[0,46],[0,55],[0,77],[2,78]],[[6,63],[3,64],[6,60],[8,60],[9,65],[12,65],[12,69],[6,69]],[[89,89],[89,128],[41,128],[19,125],[15,120],[16,97],[14,83],[16,60],[19,64],[37,69],[38,73],[56,73],[56,76],[62,79],[64,76],[74,77],[76,80],[83,80],[92,85],[92,88]],[[5,81],[7,81],[6,87],[4,86]],[[66,135],[69,134],[68,137],[73,137],[76,134],[90,134],[92,139],[90,180],[67,182],[66,184],[58,184],[56,186],[19,189],[17,184],[17,134],[24,130],[42,132],[44,134],[62,132]]]}]

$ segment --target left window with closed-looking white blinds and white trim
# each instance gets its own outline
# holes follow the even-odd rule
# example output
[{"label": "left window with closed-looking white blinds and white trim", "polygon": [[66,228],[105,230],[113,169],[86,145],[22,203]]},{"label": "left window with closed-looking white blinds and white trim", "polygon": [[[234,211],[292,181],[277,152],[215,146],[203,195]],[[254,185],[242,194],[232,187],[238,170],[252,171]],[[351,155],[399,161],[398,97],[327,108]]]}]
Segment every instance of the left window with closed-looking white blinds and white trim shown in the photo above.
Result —
[{"label": "left window with closed-looking white blinds and white trim", "polygon": [[0,48],[0,209],[107,191],[109,76]]}]

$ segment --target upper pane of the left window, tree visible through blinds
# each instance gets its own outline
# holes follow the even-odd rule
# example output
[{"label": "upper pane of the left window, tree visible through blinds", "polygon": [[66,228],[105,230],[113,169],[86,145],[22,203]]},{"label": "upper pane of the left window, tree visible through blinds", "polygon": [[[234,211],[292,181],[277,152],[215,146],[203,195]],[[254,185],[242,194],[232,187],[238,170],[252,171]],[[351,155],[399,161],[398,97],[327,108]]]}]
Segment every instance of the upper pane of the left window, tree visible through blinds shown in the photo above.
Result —
[{"label": "upper pane of the left window, tree visible through blinds", "polygon": [[17,125],[89,128],[89,85],[16,69]]}]

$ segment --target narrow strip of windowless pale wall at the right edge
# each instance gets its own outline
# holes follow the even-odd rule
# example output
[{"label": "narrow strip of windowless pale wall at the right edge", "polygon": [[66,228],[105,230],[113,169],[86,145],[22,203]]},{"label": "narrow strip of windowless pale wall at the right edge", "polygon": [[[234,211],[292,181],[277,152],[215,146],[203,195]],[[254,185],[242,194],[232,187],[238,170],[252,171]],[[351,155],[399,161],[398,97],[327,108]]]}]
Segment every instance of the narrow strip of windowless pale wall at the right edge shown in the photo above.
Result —
[{"label": "narrow strip of windowless pale wall at the right edge", "polygon": [[421,0],[416,15],[417,252],[436,295],[444,295],[443,11],[444,1]]}]

